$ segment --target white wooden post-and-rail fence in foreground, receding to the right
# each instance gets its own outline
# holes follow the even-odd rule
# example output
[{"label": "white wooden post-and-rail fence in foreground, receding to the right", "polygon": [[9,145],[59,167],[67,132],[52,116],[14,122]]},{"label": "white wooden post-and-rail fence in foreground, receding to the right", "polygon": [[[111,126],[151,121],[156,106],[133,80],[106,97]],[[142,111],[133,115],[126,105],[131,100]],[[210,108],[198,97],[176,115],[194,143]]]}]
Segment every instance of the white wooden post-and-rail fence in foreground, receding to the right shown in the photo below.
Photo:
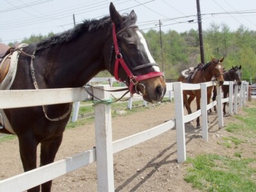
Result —
[{"label": "white wooden post-and-rail fence in foreground, receding to the right", "polygon": [[[150,138],[154,138],[163,132],[166,132],[173,127],[177,129],[177,159],[178,162],[186,160],[186,140],[184,123],[188,122],[202,114],[203,117],[203,138],[207,140],[207,109],[218,103],[218,111],[222,113],[221,94],[218,94],[217,102],[206,105],[205,95],[207,86],[214,83],[202,84],[182,84],[173,83],[173,91],[175,93],[175,120],[170,120],[164,124],[157,125],[147,131],[139,132],[132,136],[122,138],[120,140],[112,141],[111,134],[111,105],[99,103],[95,105],[95,140],[96,147],[86,150],[81,154],[76,154],[73,157],[62,159],[46,166],[36,168],[29,172],[21,173],[19,175],[10,177],[8,179],[0,180],[0,191],[24,191],[33,188],[39,184],[52,180],[56,177],[72,172],[81,166],[97,161],[97,182],[98,191],[114,191],[114,174],[113,174],[113,154],[132,147]],[[245,99],[246,83],[243,83],[243,88],[240,91],[240,99]],[[169,85],[170,86],[170,85]],[[100,86],[106,89],[107,86]],[[236,86],[235,86],[236,87]],[[184,116],[184,108],[182,102],[182,90],[196,90],[202,91],[201,109],[191,115]],[[233,88],[233,86],[230,86]],[[111,88],[107,88],[111,89]],[[220,88],[218,88],[220,92]],[[230,92],[232,93],[232,91]],[[100,99],[109,99],[109,92],[93,89],[93,94]],[[84,88],[67,88],[67,89],[53,89],[53,90],[11,90],[0,91],[0,108],[22,108],[28,106],[40,106],[47,104],[60,104],[65,102],[78,102],[87,98],[88,94]],[[237,92],[235,88],[234,99],[231,96],[228,99],[229,106],[234,100],[234,108],[237,104]],[[245,103],[243,99],[240,103]],[[165,111],[167,112],[167,111]],[[220,114],[221,114],[220,113]],[[236,111],[237,113],[237,111]],[[223,126],[222,115],[219,115],[219,126]],[[96,158],[97,157],[97,158]]]}]

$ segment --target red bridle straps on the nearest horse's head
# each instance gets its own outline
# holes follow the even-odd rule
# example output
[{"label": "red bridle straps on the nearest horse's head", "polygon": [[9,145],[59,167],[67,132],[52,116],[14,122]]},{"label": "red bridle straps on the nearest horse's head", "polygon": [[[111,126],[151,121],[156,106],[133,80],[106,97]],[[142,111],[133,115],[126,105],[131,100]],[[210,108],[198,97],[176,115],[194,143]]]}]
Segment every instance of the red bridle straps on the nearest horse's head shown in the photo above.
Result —
[{"label": "red bridle straps on the nearest horse's head", "polygon": [[[148,74],[144,74],[144,75],[141,75],[141,76],[134,76],[132,74],[131,70],[129,69],[129,67],[127,67],[127,65],[125,63],[122,54],[120,53],[118,43],[117,43],[117,39],[116,39],[115,24],[113,24],[113,42],[114,42],[114,48],[115,48],[115,54],[116,54],[115,69],[114,69],[115,79],[117,81],[122,81],[122,79],[119,79],[119,77],[118,77],[118,67],[119,67],[119,64],[121,64],[122,67],[124,68],[127,76],[130,79],[129,90],[132,94],[136,93],[136,91],[134,90],[133,87],[136,86],[140,81],[145,80],[145,79],[150,79],[152,77],[164,76],[163,72],[149,72]],[[145,66],[148,66],[148,65],[145,64]]]}]

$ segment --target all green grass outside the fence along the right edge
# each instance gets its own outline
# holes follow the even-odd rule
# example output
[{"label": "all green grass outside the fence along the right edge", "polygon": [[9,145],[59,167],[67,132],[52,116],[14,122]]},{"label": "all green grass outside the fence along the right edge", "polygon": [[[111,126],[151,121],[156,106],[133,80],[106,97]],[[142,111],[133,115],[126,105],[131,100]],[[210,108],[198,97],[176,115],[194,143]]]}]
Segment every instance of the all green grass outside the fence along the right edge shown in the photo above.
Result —
[{"label": "all green grass outside the fence along the right edge", "polygon": [[[247,138],[255,138],[256,104],[255,108],[243,108],[243,111],[246,115],[234,115],[238,121],[228,124],[225,129],[233,136],[223,137],[223,141],[217,142],[218,145],[238,149]],[[241,135],[243,140],[239,138]],[[256,152],[252,151],[253,154]],[[232,157],[202,154],[188,158],[186,163],[189,168],[184,179],[194,188],[202,191],[256,191],[256,159],[243,158],[243,149],[235,151]]]}]

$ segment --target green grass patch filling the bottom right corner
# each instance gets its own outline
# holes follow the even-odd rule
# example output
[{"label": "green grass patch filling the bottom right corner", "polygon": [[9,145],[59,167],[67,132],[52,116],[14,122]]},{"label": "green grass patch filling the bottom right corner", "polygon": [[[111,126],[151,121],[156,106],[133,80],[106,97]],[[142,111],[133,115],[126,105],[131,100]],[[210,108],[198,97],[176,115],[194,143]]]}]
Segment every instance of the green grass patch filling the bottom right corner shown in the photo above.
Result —
[{"label": "green grass patch filling the bottom right corner", "polygon": [[186,163],[191,167],[184,179],[194,188],[203,191],[256,191],[256,182],[252,179],[256,169],[249,166],[256,163],[256,159],[234,160],[203,154],[195,159],[188,158]]}]

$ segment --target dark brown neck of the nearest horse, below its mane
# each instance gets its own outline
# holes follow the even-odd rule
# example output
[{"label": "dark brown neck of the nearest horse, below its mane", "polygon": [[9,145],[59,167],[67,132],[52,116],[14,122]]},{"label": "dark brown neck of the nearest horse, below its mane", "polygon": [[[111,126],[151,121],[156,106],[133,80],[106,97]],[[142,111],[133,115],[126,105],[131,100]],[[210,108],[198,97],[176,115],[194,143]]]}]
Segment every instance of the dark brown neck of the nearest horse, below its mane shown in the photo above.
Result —
[{"label": "dark brown neck of the nearest horse, below its mane", "polygon": [[[54,88],[79,87],[86,84],[100,70],[105,70],[104,49],[111,51],[107,31],[97,30],[81,35],[77,40],[56,45],[47,51],[48,67],[45,78]],[[108,48],[106,48],[108,47]]]}]

